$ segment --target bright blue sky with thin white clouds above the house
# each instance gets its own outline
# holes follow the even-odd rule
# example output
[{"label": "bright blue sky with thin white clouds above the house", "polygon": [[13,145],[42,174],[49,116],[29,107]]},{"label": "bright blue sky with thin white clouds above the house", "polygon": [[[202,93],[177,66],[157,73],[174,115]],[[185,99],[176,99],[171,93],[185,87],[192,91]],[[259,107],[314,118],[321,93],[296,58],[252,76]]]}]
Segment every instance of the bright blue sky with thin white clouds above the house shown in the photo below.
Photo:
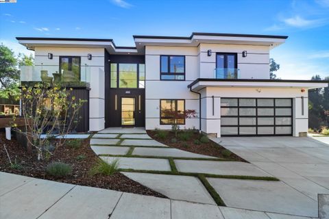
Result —
[{"label": "bright blue sky with thin white clouds above the house", "polygon": [[0,3],[0,42],[32,53],[16,36],[112,38],[192,32],[289,36],[270,51],[282,79],[329,76],[329,0],[17,0]]}]

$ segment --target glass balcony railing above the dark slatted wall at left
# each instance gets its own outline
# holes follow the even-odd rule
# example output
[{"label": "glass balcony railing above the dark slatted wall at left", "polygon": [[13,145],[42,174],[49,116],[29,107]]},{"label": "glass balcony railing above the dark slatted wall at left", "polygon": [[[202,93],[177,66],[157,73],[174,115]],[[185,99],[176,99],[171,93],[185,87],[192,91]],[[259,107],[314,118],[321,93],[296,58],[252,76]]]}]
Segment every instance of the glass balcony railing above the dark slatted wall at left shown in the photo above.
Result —
[{"label": "glass balcony railing above the dark slatted wall at left", "polygon": [[61,86],[90,85],[90,66],[72,66],[61,70],[56,65],[20,66],[20,70],[21,85],[37,82],[60,83]]}]

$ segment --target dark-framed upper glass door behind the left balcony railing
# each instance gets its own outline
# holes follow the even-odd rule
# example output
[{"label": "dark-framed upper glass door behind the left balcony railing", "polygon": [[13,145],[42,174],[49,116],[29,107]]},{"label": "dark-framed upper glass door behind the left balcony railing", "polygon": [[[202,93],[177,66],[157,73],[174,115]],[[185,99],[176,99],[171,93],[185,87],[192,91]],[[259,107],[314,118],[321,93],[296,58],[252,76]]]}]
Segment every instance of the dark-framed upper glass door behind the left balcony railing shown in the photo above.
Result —
[{"label": "dark-framed upper glass door behind the left balcony railing", "polygon": [[63,82],[80,81],[80,57],[60,56],[60,74]]}]

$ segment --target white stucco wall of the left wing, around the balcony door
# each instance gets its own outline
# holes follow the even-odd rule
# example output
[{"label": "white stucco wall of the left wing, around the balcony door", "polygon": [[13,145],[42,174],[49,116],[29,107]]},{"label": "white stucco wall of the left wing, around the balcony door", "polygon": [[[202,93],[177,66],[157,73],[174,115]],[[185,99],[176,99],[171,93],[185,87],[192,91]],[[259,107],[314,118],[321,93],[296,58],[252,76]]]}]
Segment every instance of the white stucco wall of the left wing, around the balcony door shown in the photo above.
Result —
[{"label": "white stucco wall of the left wing, around the balcony door", "polygon": [[[53,59],[48,59],[48,53],[53,53]],[[88,60],[88,53],[93,57]],[[90,99],[89,99],[89,131],[99,131],[104,128],[104,49],[101,48],[60,48],[60,47],[36,47],[35,48],[35,65],[45,66],[59,70],[60,55],[80,56],[81,66],[88,66],[86,76],[82,69],[82,78],[90,82]],[[51,73],[49,73],[51,74]],[[90,74],[90,75],[89,75]],[[51,75],[49,75],[51,76]],[[84,78],[82,79],[84,80]]]}]

